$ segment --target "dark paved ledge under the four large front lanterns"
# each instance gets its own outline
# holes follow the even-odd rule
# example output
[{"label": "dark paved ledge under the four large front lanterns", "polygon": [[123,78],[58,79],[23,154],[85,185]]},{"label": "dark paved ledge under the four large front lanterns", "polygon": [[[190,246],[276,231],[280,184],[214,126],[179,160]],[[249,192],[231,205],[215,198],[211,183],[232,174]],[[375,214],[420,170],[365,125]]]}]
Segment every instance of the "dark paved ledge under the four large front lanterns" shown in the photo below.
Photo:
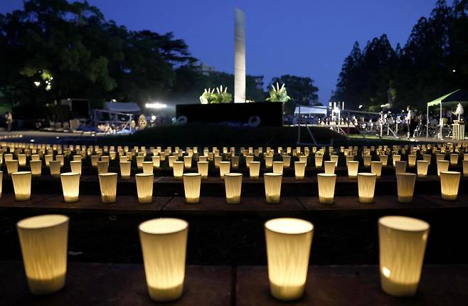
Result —
[{"label": "dark paved ledge under the four large front lanterns", "polygon": [[377,265],[309,268],[302,299],[271,295],[265,266],[186,268],[184,294],[170,303],[150,300],[143,265],[70,263],[66,285],[53,295],[28,292],[21,262],[0,262],[1,305],[466,305],[468,265],[425,265],[415,297],[381,290]]}]

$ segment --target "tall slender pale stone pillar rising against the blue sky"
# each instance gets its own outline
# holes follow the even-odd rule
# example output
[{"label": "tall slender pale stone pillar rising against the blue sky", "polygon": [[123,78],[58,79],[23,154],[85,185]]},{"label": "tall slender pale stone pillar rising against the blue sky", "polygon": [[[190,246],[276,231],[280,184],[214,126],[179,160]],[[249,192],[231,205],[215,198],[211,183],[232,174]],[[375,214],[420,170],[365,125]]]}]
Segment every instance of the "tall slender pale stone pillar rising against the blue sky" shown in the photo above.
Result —
[{"label": "tall slender pale stone pillar rising against the blue sky", "polygon": [[245,13],[234,10],[234,102],[245,103]]}]

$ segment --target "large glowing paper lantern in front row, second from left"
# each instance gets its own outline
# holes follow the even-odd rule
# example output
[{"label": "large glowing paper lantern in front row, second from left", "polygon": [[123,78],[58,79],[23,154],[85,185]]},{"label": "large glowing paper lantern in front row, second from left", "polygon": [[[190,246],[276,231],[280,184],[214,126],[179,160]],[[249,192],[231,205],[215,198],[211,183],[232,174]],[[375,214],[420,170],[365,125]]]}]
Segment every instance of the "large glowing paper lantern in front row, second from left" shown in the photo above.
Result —
[{"label": "large glowing paper lantern in front row, second from left", "polygon": [[151,300],[168,302],[182,295],[187,233],[188,223],[176,218],[157,218],[139,225]]}]

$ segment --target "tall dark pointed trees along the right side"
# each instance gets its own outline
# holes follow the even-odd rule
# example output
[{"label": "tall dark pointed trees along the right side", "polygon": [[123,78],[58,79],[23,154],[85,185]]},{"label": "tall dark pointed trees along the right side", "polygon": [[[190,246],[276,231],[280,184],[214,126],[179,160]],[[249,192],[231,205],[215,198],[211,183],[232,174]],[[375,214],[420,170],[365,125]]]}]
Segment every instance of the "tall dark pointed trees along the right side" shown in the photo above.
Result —
[{"label": "tall dark pointed trees along the right side", "polygon": [[347,107],[380,110],[425,103],[468,86],[468,0],[448,6],[438,0],[429,18],[413,27],[405,46],[392,48],[387,36],[373,38],[361,50],[354,43],[344,60],[332,100]]}]

